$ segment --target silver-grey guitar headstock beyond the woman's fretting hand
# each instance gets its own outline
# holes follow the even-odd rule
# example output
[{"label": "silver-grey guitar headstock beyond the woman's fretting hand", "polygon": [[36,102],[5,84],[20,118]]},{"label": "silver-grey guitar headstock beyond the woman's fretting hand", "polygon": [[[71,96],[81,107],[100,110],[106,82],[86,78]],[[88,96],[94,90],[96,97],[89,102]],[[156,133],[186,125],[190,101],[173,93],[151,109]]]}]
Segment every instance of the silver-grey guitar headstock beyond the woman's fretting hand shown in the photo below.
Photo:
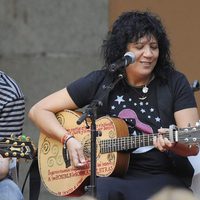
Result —
[{"label": "silver-grey guitar headstock beyond the woman's fretting hand", "polygon": [[186,128],[178,129],[178,141],[185,144],[199,144],[200,143],[200,123],[196,126],[188,126]]}]

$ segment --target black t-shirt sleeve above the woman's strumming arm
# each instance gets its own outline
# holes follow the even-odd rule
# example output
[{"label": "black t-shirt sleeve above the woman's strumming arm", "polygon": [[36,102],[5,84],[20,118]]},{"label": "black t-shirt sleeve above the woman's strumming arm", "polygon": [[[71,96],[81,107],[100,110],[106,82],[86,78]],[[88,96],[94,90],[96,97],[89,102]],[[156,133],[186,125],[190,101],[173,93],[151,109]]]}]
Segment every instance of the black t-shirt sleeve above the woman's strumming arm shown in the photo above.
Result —
[{"label": "black t-shirt sleeve above the woman's strumming arm", "polygon": [[103,70],[93,71],[67,86],[69,95],[79,108],[88,105],[93,100],[104,76]]}]

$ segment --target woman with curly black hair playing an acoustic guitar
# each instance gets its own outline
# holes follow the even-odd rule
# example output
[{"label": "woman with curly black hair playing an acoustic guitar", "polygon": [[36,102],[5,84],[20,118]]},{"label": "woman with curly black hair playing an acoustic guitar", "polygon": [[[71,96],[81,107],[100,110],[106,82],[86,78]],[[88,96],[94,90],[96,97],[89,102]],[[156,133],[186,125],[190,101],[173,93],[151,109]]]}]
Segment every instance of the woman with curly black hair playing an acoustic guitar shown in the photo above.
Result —
[{"label": "woman with curly black hair playing an acoustic guitar", "polygon": [[[105,69],[74,81],[30,110],[30,118],[45,134],[67,141],[72,164],[83,167],[86,160],[80,142],[59,124],[55,113],[75,110],[102,98],[103,92],[99,92],[102,86],[123,75],[109,95],[105,95],[99,116],[123,118],[130,135],[159,134],[154,137],[154,146],[131,151],[129,169],[123,178],[97,179],[99,199],[148,199],[166,185],[188,188],[191,183],[193,169],[186,157],[196,155],[199,149],[196,145],[171,142],[165,137],[168,130],[165,128],[171,124],[182,128],[188,124],[194,126],[199,116],[186,77],[173,67],[169,46],[157,16],[150,12],[125,12],[103,42]],[[135,55],[135,62],[109,73],[110,65],[126,52]],[[183,174],[187,180],[178,174],[182,169],[179,165],[185,168]]]}]

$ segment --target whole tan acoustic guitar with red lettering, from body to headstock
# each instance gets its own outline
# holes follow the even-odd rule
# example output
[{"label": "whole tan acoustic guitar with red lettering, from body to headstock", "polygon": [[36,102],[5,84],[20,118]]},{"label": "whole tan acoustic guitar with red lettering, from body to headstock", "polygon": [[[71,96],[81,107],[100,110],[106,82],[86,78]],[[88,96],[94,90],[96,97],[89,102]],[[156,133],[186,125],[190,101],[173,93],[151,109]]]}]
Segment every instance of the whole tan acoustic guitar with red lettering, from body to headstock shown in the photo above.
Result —
[{"label": "whole tan acoustic guitar with red lettering, from body to headstock", "polygon": [[[47,190],[54,195],[80,196],[84,194],[84,188],[89,184],[90,129],[86,128],[86,123],[77,125],[76,122],[80,117],[78,112],[66,110],[57,113],[56,116],[61,125],[83,145],[88,165],[84,169],[68,166],[66,163],[68,156],[63,151],[63,145],[40,133],[38,165],[41,179]],[[104,116],[96,120],[96,125],[97,130],[101,132],[96,143],[97,176],[123,176],[129,165],[129,153],[125,151],[153,145],[154,134],[129,136],[127,124],[122,119]],[[173,142],[198,143],[199,129],[199,127],[188,127],[176,130],[170,127],[166,137]]]}]

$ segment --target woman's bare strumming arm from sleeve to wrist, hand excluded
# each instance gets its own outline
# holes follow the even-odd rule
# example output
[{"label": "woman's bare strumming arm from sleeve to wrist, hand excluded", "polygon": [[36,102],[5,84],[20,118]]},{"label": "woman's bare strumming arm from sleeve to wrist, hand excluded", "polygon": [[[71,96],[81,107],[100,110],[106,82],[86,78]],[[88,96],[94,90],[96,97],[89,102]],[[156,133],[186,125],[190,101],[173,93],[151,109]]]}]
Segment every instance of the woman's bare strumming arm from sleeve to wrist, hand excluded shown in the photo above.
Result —
[{"label": "woman's bare strumming arm from sleeve to wrist, hand excluded", "polygon": [[56,119],[55,113],[76,108],[77,106],[64,88],[36,103],[29,111],[29,117],[46,135],[61,141],[67,132]]}]

